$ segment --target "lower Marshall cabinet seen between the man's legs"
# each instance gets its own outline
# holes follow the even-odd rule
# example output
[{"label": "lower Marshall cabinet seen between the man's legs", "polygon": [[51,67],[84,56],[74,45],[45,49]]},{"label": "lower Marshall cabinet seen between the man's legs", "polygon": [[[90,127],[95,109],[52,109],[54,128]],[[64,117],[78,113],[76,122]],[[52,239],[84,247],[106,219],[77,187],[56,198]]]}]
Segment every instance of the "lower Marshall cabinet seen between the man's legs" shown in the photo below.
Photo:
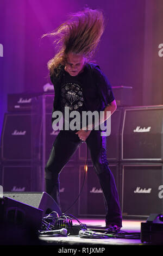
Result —
[{"label": "lower Marshall cabinet seen between the man's legs", "polygon": [[[118,165],[109,164],[109,168],[114,175],[118,190]],[[96,175],[95,169],[91,164],[87,164],[86,173],[84,171],[84,166],[79,167],[79,192],[81,190],[82,193],[79,197],[78,215],[92,217],[105,216],[106,211],[103,191],[101,185],[99,184],[99,179]]]}]

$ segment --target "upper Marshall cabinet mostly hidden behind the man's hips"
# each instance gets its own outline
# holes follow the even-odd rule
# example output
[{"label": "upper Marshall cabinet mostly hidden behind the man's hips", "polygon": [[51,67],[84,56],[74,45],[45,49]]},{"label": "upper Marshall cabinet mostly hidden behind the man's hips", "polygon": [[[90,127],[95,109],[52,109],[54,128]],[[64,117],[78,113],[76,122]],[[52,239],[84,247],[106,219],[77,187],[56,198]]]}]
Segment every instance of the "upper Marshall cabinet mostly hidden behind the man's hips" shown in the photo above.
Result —
[{"label": "upper Marshall cabinet mostly hidden behind the man's hips", "polygon": [[[117,108],[114,114],[111,115],[111,133],[106,137],[106,156],[109,162],[119,161],[119,135],[120,125],[122,119],[122,108]],[[87,155],[86,143],[78,149],[78,159],[85,160]],[[88,160],[91,160],[90,151],[88,154]]]}]

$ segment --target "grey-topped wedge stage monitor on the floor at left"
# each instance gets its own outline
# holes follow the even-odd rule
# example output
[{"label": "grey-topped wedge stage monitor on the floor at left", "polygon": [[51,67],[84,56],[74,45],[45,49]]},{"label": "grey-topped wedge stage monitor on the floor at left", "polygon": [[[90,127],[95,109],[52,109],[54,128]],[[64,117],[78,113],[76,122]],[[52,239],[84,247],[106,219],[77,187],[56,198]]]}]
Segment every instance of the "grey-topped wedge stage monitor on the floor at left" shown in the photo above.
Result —
[{"label": "grey-topped wedge stage monitor on the floor at left", "polygon": [[[46,192],[4,192],[4,197],[8,197],[23,204],[27,204],[33,206],[34,208],[40,209],[43,211],[42,216],[47,216],[52,211],[57,212],[57,214],[61,215],[61,210],[55,200],[49,196]],[[57,214],[54,216],[58,217]]]}]

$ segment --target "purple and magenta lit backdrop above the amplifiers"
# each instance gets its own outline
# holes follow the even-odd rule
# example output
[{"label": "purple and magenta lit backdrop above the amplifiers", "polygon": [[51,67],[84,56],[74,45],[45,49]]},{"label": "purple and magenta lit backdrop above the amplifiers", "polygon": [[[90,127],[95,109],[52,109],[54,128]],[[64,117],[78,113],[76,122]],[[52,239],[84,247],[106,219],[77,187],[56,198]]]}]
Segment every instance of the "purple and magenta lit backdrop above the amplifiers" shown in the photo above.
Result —
[{"label": "purple and magenta lit backdrop above the amplifiers", "polygon": [[54,54],[51,32],[68,13],[103,9],[106,28],[95,59],[112,86],[133,87],[134,105],[163,103],[162,0],[1,0],[0,132],[7,94],[41,92]]}]

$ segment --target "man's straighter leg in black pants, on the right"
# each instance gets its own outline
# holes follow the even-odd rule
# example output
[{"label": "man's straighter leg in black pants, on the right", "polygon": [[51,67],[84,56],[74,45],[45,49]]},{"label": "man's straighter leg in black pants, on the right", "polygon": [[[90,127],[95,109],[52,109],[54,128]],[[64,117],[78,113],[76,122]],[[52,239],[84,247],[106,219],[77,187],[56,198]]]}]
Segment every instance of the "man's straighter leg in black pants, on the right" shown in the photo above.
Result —
[{"label": "man's straighter leg in black pants, on the right", "polygon": [[122,227],[122,214],[115,179],[106,159],[106,137],[101,136],[101,131],[92,130],[86,143],[90,149],[93,167],[104,193],[107,211],[106,225],[112,224]]}]

